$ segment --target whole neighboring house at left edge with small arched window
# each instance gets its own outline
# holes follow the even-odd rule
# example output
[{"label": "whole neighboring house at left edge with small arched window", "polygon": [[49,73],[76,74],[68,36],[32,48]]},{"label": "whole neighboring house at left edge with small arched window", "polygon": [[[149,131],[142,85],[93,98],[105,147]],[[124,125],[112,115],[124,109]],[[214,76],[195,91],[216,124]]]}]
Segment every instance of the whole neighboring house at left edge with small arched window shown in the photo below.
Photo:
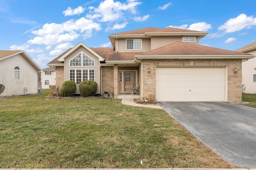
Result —
[{"label": "whole neighboring house at left edge with small arched window", "polygon": [[25,51],[0,51],[0,84],[5,86],[0,96],[38,93],[39,72],[41,68]]}]

